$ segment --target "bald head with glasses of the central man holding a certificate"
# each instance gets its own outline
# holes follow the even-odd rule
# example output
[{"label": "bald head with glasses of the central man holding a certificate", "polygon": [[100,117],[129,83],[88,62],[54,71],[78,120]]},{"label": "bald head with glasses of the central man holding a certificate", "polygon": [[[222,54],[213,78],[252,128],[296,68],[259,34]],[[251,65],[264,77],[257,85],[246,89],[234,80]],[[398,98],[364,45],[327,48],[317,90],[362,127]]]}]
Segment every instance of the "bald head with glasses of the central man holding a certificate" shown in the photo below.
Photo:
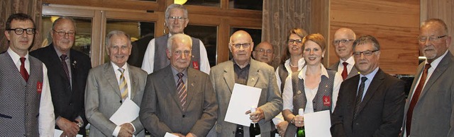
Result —
[{"label": "bald head with glasses of the central man holding a certificate", "polygon": [[253,51],[254,42],[248,32],[238,30],[230,37],[228,49],[233,55],[233,60],[240,67],[244,67],[249,63],[250,53]]}]

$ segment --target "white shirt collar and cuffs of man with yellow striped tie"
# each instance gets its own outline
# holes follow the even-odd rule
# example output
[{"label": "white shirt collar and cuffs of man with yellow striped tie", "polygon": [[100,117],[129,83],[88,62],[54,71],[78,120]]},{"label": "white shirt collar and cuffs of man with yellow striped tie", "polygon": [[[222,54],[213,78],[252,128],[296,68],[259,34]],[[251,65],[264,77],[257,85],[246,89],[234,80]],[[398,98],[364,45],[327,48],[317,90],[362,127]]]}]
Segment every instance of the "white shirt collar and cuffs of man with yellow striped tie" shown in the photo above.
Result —
[{"label": "white shirt collar and cuffs of man with yellow striped tie", "polygon": [[[116,66],[116,64],[114,64],[113,62],[111,62],[111,64],[112,64],[112,67],[114,67],[116,81],[117,81],[117,83],[120,83],[121,72],[118,71],[118,68],[120,68],[120,67]],[[125,65],[123,65],[121,68],[123,68],[125,70],[123,72],[123,76],[126,80],[126,84],[128,85],[128,98],[131,98],[131,78],[129,77],[128,63],[125,63]],[[135,126],[132,123],[129,123],[129,124],[131,124],[131,126],[133,126],[134,131],[135,131]],[[118,136],[118,133],[120,133],[120,129],[121,129],[121,127],[119,125],[117,125],[114,129],[114,133],[112,133],[112,136]]]}]

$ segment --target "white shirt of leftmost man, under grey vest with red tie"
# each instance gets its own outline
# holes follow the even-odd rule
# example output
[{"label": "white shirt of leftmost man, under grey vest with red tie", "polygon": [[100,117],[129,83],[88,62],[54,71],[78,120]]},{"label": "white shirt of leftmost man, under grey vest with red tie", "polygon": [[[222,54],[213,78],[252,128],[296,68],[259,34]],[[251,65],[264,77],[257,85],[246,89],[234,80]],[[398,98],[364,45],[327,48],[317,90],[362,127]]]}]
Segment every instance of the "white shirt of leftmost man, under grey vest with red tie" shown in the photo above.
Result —
[{"label": "white shirt of leftmost man, under grey vest with red tie", "polygon": [[[13,59],[14,64],[18,71],[21,71],[21,56],[13,52],[11,47],[7,50],[11,59]],[[28,53],[26,56],[25,68],[27,73],[30,73],[30,60],[28,60]],[[54,105],[52,104],[52,97],[50,96],[50,86],[48,78],[48,68],[43,64],[43,90],[41,91],[40,105],[39,105],[39,116],[38,116],[38,131],[40,136],[52,137],[54,136],[55,129],[55,114],[54,114]]]}]

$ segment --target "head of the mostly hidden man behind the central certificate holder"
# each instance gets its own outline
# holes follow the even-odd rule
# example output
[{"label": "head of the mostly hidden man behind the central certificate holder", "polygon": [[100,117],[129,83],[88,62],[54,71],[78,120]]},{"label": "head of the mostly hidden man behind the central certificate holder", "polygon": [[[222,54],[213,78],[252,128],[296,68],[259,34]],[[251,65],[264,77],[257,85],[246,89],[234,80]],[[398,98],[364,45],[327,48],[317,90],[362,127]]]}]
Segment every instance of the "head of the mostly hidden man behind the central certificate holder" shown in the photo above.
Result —
[{"label": "head of the mostly hidden man behind the central certificate holder", "polygon": [[272,66],[272,59],[274,59],[275,52],[270,42],[261,42],[255,47],[253,57],[255,60],[266,63]]}]

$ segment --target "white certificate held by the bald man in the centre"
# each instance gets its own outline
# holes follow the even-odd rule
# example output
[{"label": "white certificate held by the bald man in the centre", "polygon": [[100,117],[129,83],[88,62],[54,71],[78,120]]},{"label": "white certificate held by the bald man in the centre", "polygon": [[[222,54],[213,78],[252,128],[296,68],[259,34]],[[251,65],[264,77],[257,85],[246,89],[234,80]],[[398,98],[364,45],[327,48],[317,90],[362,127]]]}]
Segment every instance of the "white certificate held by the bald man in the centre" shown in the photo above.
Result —
[{"label": "white certificate held by the bald man in the centre", "polygon": [[228,102],[226,119],[234,124],[250,126],[249,114],[245,114],[250,107],[257,107],[262,89],[248,85],[235,84]]}]

